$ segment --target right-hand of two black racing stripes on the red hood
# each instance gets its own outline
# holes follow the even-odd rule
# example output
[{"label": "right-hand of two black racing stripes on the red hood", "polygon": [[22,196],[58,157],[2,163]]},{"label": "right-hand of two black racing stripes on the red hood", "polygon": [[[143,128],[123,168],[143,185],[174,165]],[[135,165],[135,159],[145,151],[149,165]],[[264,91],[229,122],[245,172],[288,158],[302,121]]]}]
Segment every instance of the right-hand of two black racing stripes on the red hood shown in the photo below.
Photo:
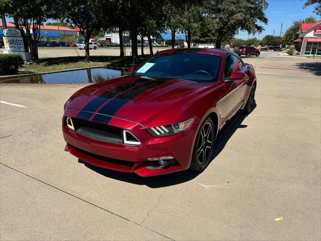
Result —
[{"label": "right-hand of two black racing stripes on the red hood", "polygon": [[[169,80],[170,79],[156,79],[152,82],[142,84],[136,88],[133,88],[133,89],[117,96],[116,98],[114,98],[110,102],[108,102],[106,105],[104,105],[97,112],[98,114],[96,114],[93,117],[92,121],[108,124],[111,119],[110,116],[113,116],[129,100],[131,100],[134,97],[136,97],[137,95],[142,94],[145,91],[147,91],[147,90],[149,90],[159,84],[165,83]],[[110,116],[106,116],[106,115],[110,115]]]}]

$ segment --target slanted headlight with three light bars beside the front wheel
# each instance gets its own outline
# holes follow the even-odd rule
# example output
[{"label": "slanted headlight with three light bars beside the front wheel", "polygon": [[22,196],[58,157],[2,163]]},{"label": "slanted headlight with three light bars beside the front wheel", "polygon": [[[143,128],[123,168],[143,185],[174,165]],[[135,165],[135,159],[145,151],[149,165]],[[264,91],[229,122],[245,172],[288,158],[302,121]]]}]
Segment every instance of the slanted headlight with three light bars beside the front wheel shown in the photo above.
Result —
[{"label": "slanted headlight with three light bars beside the front wheel", "polygon": [[193,121],[194,117],[184,122],[177,122],[167,126],[151,127],[147,130],[155,137],[170,136],[186,131]]}]

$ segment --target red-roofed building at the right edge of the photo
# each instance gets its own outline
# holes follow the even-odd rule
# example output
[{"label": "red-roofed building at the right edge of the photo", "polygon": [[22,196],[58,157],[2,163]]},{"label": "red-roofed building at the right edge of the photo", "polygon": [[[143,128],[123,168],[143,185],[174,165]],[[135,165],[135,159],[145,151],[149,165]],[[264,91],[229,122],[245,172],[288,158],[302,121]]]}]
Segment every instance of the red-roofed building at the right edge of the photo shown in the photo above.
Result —
[{"label": "red-roofed building at the right edge of the photo", "polygon": [[294,42],[300,55],[321,55],[321,20],[302,23],[299,38]]}]

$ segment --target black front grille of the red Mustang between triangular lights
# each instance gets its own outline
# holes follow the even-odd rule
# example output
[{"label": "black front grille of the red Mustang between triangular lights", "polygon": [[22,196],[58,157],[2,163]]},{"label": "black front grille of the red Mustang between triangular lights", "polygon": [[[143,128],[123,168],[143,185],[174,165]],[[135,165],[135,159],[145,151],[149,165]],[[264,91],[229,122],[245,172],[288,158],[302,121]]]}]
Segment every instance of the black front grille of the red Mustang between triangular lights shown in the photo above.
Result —
[{"label": "black front grille of the red Mustang between triangular lights", "polygon": [[72,122],[75,133],[79,135],[96,141],[123,144],[123,130],[121,128],[79,118],[72,118]]}]

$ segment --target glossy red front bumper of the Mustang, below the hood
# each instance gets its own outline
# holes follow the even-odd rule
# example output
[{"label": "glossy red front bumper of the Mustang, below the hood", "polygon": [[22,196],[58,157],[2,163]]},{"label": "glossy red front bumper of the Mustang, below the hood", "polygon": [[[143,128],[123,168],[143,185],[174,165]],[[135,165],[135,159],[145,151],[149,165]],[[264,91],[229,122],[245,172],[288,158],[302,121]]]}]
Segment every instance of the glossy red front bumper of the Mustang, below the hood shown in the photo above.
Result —
[{"label": "glossy red front bumper of the Mustang, below the hood", "polygon": [[[154,137],[145,127],[124,119],[113,117],[109,125],[125,129],[133,133],[141,145],[123,145],[106,143],[89,139],[71,131],[64,122],[66,116],[77,115],[75,110],[65,110],[62,130],[67,145],[65,150],[82,161],[101,168],[122,172],[135,172],[140,176],[161,175],[189,168],[194,137],[198,119],[183,133]],[[151,170],[145,165],[147,158],[171,156],[177,164],[163,169]]]}]

